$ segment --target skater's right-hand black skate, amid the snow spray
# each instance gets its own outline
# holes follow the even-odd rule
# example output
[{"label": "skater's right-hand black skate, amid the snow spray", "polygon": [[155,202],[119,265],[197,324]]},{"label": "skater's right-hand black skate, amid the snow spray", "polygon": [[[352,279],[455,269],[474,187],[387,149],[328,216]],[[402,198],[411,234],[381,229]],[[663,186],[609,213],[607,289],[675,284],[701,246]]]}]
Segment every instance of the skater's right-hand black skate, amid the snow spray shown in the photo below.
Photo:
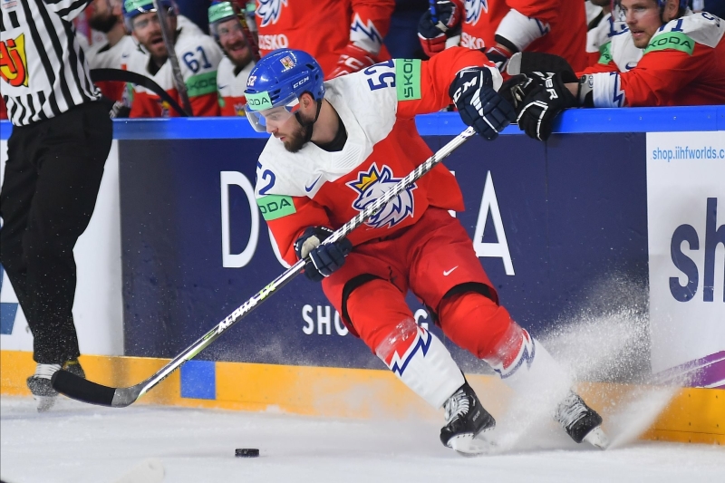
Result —
[{"label": "skater's right-hand black skate, amid the snow spray", "polygon": [[559,403],[555,418],[577,443],[586,441],[599,449],[605,449],[609,445],[602,430],[602,417],[574,392],[570,392]]}]

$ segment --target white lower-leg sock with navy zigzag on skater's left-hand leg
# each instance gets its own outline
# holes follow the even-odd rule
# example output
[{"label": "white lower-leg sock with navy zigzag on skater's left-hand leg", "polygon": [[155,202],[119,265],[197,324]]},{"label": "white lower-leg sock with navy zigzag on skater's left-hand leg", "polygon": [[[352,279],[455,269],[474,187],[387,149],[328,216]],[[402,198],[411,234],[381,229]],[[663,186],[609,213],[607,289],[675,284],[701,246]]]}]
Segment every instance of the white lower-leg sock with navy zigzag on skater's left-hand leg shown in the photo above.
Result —
[{"label": "white lower-leg sock with navy zigzag on skater's left-hand leg", "polygon": [[405,385],[436,409],[466,382],[445,345],[415,324],[412,317],[396,324],[375,353]]}]

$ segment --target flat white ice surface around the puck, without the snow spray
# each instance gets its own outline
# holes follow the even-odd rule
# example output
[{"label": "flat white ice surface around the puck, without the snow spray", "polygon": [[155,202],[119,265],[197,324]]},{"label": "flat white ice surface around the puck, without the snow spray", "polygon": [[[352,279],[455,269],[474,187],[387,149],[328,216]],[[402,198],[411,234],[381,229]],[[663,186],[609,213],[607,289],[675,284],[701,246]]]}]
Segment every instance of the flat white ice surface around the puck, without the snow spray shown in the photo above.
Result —
[{"label": "flat white ice surface around the puck, without the snow spray", "polygon": [[[112,483],[149,458],[163,462],[169,483],[681,483],[720,481],[725,474],[720,446],[623,441],[600,451],[577,446],[544,423],[498,454],[478,458],[444,448],[440,424],[432,420],[107,409],[68,400],[38,414],[31,399],[2,397],[0,425],[0,477],[7,483]],[[261,456],[235,458],[236,448],[258,448]]]}]

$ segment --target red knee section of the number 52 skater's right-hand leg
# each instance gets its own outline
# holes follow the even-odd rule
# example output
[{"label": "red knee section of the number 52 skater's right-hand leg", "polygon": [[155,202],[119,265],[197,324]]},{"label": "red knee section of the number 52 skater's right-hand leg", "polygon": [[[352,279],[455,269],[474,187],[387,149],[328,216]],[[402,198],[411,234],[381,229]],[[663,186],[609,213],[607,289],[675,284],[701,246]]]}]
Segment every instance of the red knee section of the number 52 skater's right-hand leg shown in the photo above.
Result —
[{"label": "red knee section of the number 52 skater's right-hand leg", "polygon": [[504,307],[474,292],[444,298],[439,322],[450,340],[479,359],[487,359],[514,324]]}]

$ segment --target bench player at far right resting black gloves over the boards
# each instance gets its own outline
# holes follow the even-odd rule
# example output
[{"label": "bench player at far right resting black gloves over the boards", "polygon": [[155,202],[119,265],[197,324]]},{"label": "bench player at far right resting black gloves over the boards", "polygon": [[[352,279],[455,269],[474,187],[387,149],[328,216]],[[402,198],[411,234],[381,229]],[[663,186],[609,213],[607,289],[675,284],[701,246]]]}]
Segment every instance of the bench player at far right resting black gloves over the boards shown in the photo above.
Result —
[{"label": "bench player at far right resting black gloves over the boards", "polygon": [[[507,81],[518,125],[546,140],[559,112],[569,107],[688,106],[725,103],[725,22],[692,14],[686,0],[621,0],[629,35],[643,49],[637,66],[623,72],[525,72]],[[613,47],[614,49],[614,43]],[[615,60],[615,55],[613,53]]]}]

